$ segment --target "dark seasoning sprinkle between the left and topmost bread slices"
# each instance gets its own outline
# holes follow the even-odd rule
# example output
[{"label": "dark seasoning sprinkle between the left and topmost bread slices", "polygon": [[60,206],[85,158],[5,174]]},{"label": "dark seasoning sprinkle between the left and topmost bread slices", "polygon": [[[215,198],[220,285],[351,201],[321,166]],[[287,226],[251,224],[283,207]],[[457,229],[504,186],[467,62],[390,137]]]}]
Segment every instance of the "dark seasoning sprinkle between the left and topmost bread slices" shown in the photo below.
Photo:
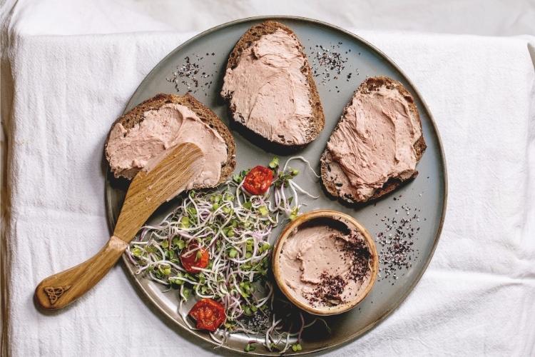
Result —
[{"label": "dark seasoning sprinkle between the left and topmost bread slices", "polygon": [[[215,56],[212,52],[206,53],[205,56],[200,54],[193,54],[193,56],[185,56],[181,65],[176,67],[176,71],[173,72],[173,76],[167,78],[167,81],[175,84],[175,89],[180,91],[187,91],[188,93],[197,93],[198,91],[205,92],[210,89],[213,83],[214,74],[218,71],[205,70],[203,67],[206,65],[205,61],[209,61],[211,56]],[[215,66],[215,62],[212,62],[212,66]],[[199,73],[200,72],[200,73]]]}]

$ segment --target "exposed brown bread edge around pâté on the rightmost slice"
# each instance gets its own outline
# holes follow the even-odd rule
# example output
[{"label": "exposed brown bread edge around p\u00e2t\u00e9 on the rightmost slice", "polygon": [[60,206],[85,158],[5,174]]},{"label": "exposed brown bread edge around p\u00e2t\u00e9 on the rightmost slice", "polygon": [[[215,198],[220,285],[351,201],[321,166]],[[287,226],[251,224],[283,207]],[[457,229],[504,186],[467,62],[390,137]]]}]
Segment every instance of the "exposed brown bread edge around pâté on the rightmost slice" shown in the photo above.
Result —
[{"label": "exposed brown bread edge around p\u00e2t\u00e9 on the rightmost slice", "polygon": [[[412,119],[415,123],[417,123],[417,126],[419,126],[419,133],[421,135],[417,138],[415,138],[413,142],[413,148],[414,148],[414,156],[416,157],[416,161],[418,162],[422,155],[424,154],[424,151],[426,149],[426,144],[424,141],[424,136],[422,134],[422,121],[420,120],[418,109],[416,107],[416,104],[414,104],[414,99],[412,98],[411,94],[407,89],[404,88],[404,86],[399,83],[399,81],[395,81],[394,79],[390,79],[386,76],[377,76],[377,77],[370,77],[367,78],[362,84],[360,84],[357,91],[355,91],[355,94],[353,95],[352,99],[355,99],[357,96],[365,96],[367,94],[372,94],[374,91],[379,90],[386,90],[386,91],[397,91],[404,101],[406,102],[408,108],[409,108],[409,114],[412,116]],[[345,119],[345,116],[347,115],[347,111],[352,105],[352,101],[345,106],[345,109],[342,113],[341,119],[337,124],[337,127],[335,128],[335,131],[337,131],[340,127],[340,123]],[[335,133],[333,131],[333,133]],[[331,136],[332,138],[332,136]],[[330,139],[331,140],[331,139]],[[373,194],[367,198],[359,198],[357,196],[351,195],[351,194],[342,194],[340,192],[340,187],[343,185],[351,185],[349,179],[347,177],[344,177],[340,181],[334,181],[332,178],[331,173],[331,167],[332,165],[332,155],[328,148],[325,148],[325,151],[322,154],[322,157],[320,159],[320,166],[321,166],[321,176],[322,176],[322,183],[327,191],[331,196],[335,198],[339,198],[342,201],[345,201],[346,203],[364,203],[367,201],[372,201],[376,198],[382,197],[386,195],[389,192],[394,191],[397,187],[401,186],[402,183],[405,181],[408,181],[411,178],[415,178],[418,175],[418,171],[414,170],[412,172],[404,172],[404,173],[398,173],[391,176],[388,176],[388,179],[386,182],[383,183],[382,187],[376,188],[373,192]],[[362,170],[362,168],[360,168]],[[341,181],[345,181],[342,183]],[[354,186],[353,186],[354,187]]]}]

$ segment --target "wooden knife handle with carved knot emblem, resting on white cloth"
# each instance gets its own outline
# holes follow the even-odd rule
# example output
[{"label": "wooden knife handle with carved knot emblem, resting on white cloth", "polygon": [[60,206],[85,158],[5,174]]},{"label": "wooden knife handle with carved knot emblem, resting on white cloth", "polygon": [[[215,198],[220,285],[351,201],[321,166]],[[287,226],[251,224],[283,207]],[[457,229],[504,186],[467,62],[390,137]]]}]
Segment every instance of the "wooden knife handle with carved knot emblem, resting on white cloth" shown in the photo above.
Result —
[{"label": "wooden knife handle with carved knot emblem, resting on white cloth", "polygon": [[48,310],[63,308],[96,285],[121,258],[128,243],[111,236],[95,256],[73,268],[45,278],[36,288],[39,306]]}]

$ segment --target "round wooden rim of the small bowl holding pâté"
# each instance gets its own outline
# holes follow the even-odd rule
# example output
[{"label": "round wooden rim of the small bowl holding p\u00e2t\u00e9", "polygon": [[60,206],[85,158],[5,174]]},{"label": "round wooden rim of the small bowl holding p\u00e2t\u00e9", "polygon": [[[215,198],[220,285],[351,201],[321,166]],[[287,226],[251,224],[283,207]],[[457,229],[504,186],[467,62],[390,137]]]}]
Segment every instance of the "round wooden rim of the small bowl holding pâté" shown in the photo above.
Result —
[{"label": "round wooden rim of the small bowl holding p\u00e2t\u00e9", "polygon": [[[292,293],[290,289],[287,287],[286,283],[284,282],[284,279],[282,278],[281,268],[280,268],[280,251],[282,250],[282,246],[284,245],[285,241],[288,237],[294,233],[295,228],[298,228],[301,226],[302,223],[305,223],[307,221],[312,221],[315,218],[331,218],[334,221],[345,221],[345,223],[349,223],[350,225],[357,228],[358,231],[362,233],[362,235],[365,237],[366,245],[368,250],[370,251],[370,259],[371,259],[371,277],[370,281],[368,282],[366,288],[362,293],[360,293],[358,296],[355,297],[354,300],[349,301],[347,303],[340,303],[340,305],[337,306],[325,306],[325,307],[313,307],[306,303],[302,303],[301,301],[298,301],[297,298],[292,296]],[[368,293],[372,290],[373,284],[375,283],[375,280],[377,279],[377,268],[379,264],[379,258],[377,256],[377,249],[375,248],[375,243],[372,239],[372,236],[370,235],[370,232],[367,231],[367,229],[362,226],[355,218],[352,218],[351,216],[348,216],[345,213],[338,212],[338,211],[332,211],[328,209],[322,209],[322,210],[316,210],[316,211],[310,211],[307,213],[302,214],[301,216],[297,217],[295,221],[292,221],[288,223],[288,225],[284,228],[282,233],[280,234],[277,243],[275,244],[275,248],[273,249],[273,256],[272,256],[272,269],[273,269],[273,275],[275,276],[275,281],[277,281],[277,285],[279,286],[282,293],[285,294],[285,296],[290,300],[292,303],[295,304],[298,308],[301,308],[302,310],[307,311],[308,313],[312,313],[314,315],[337,315],[339,313],[344,313],[346,311],[351,310],[355,306],[357,306],[360,301],[362,301]]]}]

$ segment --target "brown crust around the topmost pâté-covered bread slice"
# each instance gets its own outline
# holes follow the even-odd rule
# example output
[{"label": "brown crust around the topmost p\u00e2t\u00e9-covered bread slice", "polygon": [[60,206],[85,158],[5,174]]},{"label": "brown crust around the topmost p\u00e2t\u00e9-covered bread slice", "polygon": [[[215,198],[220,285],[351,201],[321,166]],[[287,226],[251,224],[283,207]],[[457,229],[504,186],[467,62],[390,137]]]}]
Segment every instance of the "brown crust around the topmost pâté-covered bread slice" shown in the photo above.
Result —
[{"label": "brown crust around the topmost p\u00e2t\u00e9-covered bread slice", "polygon": [[[287,26],[280,24],[280,22],[277,21],[271,21],[267,20],[262,22],[261,24],[255,25],[248,29],[243,36],[241,36],[240,40],[236,43],[234,46],[234,49],[232,52],[230,52],[230,55],[228,56],[228,62],[226,69],[235,69],[236,66],[238,66],[238,61],[240,59],[240,55],[243,54],[243,51],[245,49],[248,49],[249,46],[251,46],[255,41],[258,41],[261,36],[267,35],[267,34],[273,34],[278,29],[282,29],[282,31],[285,31],[287,34],[294,35],[297,38],[297,35]],[[300,53],[305,56],[305,64],[301,67],[301,73],[305,74],[307,77],[307,82],[310,87],[310,106],[312,106],[312,122],[307,130],[306,138],[307,141],[305,144],[299,144],[299,145],[288,145],[280,143],[279,141],[270,141],[269,139],[265,139],[265,141],[268,142],[268,144],[272,144],[274,146],[277,146],[276,149],[283,149],[286,147],[287,149],[302,149],[307,144],[310,144],[310,142],[314,141],[317,136],[320,134],[320,132],[323,130],[323,127],[325,126],[325,114],[323,113],[323,106],[320,101],[320,94],[317,92],[317,86],[314,81],[314,77],[312,74],[312,69],[310,67],[310,64],[307,59],[307,54],[305,53],[305,49],[303,48],[302,44],[299,41],[299,51]],[[250,130],[247,126],[242,124],[240,121],[237,121],[234,119],[235,115],[235,108],[230,104],[230,99],[232,99],[232,94],[228,94],[228,96],[223,96],[224,99],[228,100],[228,106],[230,113],[232,114],[232,121],[235,124],[238,124],[239,129],[245,129],[246,131],[250,131],[254,133],[254,131]],[[249,136],[253,136],[252,133],[248,133]],[[254,133],[256,134],[256,133]],[[259,136],[258,134],[256,134]],[[281,147],[278,147],[281,146]],[[276,150],[275,149],[275,150]]]}]

